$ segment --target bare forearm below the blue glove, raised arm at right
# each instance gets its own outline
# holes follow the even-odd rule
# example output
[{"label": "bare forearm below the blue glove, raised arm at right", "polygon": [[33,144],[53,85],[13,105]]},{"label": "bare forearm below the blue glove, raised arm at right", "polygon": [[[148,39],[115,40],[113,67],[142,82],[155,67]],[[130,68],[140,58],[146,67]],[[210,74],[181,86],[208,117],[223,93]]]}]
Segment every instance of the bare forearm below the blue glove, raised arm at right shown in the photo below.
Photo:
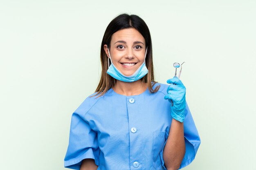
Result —
[{"label": "bare forearm below the blue glove, raised arm at right", "polygon": [[167,170],[177,170],[185,155],[183,122],[172,119],[169,136],[164,147],[163,158]]}]

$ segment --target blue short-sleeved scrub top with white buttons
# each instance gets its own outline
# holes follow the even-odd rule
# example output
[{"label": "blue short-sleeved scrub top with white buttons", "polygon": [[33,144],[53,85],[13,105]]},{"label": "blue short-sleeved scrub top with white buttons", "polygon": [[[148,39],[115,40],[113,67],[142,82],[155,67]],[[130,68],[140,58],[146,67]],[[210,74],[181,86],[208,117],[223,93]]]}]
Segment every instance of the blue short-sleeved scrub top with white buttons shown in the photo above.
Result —
[{"label": "blue short-sleeved scrub top with white buttons", "polygon": [[[92,158],[97,170],[167,170],[163,150],[171,103],[164,99],[168,85],[160,85],[156,93],[147,88],[140,95],[125,96],[111,88],[101,97],[87,97],[72,114],[64,166],[79,170],[83,159]],[[200,146],[187,104],[183,122],[186,153],[180,168],[195,159]]]}]

